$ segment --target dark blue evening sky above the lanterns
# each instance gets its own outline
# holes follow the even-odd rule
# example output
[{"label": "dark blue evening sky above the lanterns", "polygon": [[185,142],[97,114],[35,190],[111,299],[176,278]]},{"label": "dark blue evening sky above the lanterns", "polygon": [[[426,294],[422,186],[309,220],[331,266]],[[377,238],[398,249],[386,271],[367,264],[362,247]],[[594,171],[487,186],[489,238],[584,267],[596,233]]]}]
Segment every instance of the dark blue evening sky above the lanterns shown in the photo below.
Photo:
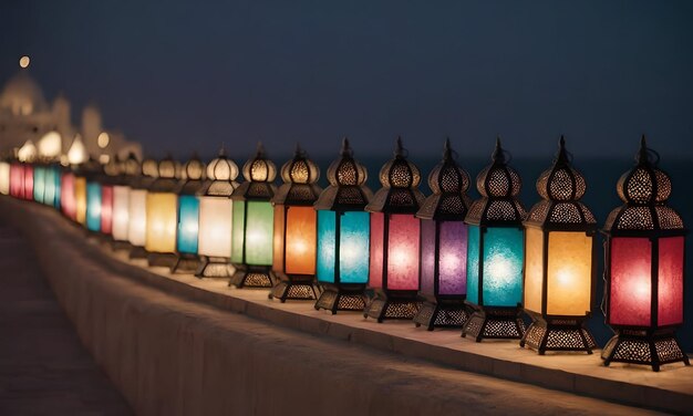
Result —
[{"label": "dark blue evening sky above the lanterns", "polygon": [[[693,157],[690,1],[30,1],[0,4],[0,82],[22,54],[73,116],[187,156],[261,139],[335,155]],[[220,3],[220,2],[219,2]]]}]

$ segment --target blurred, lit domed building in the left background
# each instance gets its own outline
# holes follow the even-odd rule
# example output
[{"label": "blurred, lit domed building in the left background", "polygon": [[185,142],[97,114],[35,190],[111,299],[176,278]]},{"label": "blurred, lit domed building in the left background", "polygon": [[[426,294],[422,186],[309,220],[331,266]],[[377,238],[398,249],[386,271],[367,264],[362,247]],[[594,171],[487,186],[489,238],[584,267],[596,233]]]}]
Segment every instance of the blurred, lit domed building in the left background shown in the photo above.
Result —
[{"label": "blurred, lit domed building in the left background", "polygon": [[142,158],[142,146],[115,131],[104,129],[101,112],[90,104],[82,111],[80,126],[72,125],[70,101],[59,95],[49,103],[41,86],[29,74],[27,56],[20,71],[0,90],[0,156],[17,155],[24,143],[37,145],[39,157],[60,159],[73,142],[81,142],[85,157],[107,162],[134,153]]}]

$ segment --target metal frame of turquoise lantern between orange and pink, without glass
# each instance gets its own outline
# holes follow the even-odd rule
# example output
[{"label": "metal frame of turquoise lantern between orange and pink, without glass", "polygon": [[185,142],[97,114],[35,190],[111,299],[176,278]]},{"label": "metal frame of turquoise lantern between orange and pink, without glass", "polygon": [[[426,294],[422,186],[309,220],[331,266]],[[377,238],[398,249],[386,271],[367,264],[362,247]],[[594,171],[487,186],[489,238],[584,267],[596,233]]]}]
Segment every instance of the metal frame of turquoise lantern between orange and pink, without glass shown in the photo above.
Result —
[{"label": "metal frame of turquoise lantern between orange and pink, without glass", "polygon": [[[316,310],[325,309],[332,314],[337,311],[363,311],[366,305],[365,288],[368,282],[368,270],[364,275],[364,283],[349,283],[342,281],[342,252],[341,233],[342,222],[348,212],[364,212],[365,206],[373,198],[373,193],[365,186],[368,171],[363,165],[353,157],[353,150],[349,145],[349,139],[342,141],[340,158],[334,160],[328,168],[328,186],[321,194],[313,208],[320,216],[321,211],[333,212],[334,215],[334,243],[332,252],[334,258],[333,282],[319,281],[322,293],[316,302]],[[370,242],[370,215],[364,216],[364,227],[369,230],[366,237],[366,251]],[[323,236],[318,235],[320,246]],[[368,257],[366,257],[368,258]],[[368,262],[366,262],[368,269]]]}]

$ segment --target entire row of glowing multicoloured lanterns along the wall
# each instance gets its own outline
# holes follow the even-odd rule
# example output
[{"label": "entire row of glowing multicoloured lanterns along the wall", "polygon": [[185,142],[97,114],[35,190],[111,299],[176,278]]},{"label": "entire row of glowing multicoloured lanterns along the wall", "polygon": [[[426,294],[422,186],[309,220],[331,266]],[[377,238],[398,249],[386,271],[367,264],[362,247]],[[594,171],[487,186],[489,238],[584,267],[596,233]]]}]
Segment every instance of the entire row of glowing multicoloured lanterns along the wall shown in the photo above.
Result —
[{"label": "entire row of glowing multicoloured lanterns along the wall", "polygon": [[[624,205],[602,229],[604,312],[617,333],[602,358],[659,371],[689,364],[674,334],[683,323],[685,230],[666,206],[671,181],[652,154],[643,137],[635,167],[618,181]],[[324,190],[318,166],[299,148],[278,189],[261,146],[244,165],[240,185],[224,149],[206,169],[197,158],[183,167],[170,158],[141,167],[131,157],[102,173],[93,162],[74,170],[0,163],[0,193],[60,208],[151,266],[271,288],[270,299],[282,302],[317,300],[316,309],[363,311],[377,322],[463,327],[477,342],[519,339],[539,354],[596,346],[585,321],[593,304],[597,221],[580,202],[586,183],[562,137],[537,180],[542,199],[529,212],[499,142],[477,177],[482,198],[474,202],[449,142],[428,176],[427,198],[400,139],[374,195],[346,139]],[[520,311],[531,318],[528,329]]]}]

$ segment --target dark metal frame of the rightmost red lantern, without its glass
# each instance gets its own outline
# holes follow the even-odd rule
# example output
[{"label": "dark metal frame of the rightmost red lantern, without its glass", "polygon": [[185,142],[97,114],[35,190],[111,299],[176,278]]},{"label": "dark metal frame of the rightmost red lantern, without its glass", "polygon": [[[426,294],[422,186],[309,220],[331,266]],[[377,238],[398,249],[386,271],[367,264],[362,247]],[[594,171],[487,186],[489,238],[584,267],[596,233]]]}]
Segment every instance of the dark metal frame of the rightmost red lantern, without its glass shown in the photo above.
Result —
[{"label": "dark metal frame of the rightmost red lantern, without its glass", "polygon": [[[609,215],[601,232],[604,241],[604,297],[602,310],[606,323],[616,333],[601,352],[604,365],[631,363],[650,365],[659,372],[663,364],[682,362],[691,365],[686,353],[676,340],[675,331],[683,325],[685,293],[685,239],[687,230],[681,216],[666,205],[671,194],[669,175],[658,167],[659,155],[647,147],[642,136],[635,166],[623,174],[617,190],[624,201]],[[660,240],[680,237],[682,242],[681,310],[682,319],[675,324],[659,324]],[[648,325],[617,324],[611,321],[612,243],[619,238],[650,240],[650,323]]]}]

